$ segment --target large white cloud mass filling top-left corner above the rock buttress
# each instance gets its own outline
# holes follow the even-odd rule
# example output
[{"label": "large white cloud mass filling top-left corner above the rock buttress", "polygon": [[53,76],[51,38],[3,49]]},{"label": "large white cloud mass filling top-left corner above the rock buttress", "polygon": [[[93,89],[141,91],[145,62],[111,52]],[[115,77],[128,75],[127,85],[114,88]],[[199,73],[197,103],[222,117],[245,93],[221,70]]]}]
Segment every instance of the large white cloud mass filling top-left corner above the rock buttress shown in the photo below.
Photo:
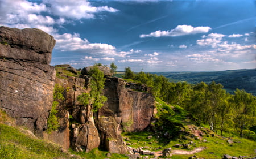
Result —
[{"label": "large white cloud mass filling top-left corner above the rock buttress", "polygon": [[56,26],[72,22],[74,18],[94,18],[99,12],[118,11],[108,6],[94,7],[84,0],[43,0],[37,3],[27,0],[0,0],[0,4],[0,25],[20,29],[39,28],[49,34],[57,32]]}]

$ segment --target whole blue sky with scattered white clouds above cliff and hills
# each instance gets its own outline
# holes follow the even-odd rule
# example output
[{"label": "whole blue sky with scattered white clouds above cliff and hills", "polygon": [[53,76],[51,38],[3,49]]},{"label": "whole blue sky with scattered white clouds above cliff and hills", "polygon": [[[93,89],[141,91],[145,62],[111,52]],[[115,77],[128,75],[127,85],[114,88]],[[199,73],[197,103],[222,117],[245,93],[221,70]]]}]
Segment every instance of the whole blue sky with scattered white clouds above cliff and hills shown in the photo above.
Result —
[{"label": "whole blue sky with scattered white clouds above cliff and hills", "polygon": [[0,26],[52,35],[52,66],[221,71],[256,68],[255,11],[255,0],[0,0]]}]

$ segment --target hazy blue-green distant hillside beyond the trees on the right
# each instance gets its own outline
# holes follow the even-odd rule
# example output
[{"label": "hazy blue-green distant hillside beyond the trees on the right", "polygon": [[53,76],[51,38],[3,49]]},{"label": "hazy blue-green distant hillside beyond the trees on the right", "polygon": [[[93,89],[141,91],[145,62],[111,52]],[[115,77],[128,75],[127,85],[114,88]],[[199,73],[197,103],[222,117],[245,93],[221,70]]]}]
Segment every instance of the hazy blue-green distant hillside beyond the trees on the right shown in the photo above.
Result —
[{"label": "hazy blue-green distant hillside beyond the trees on the right", "polygon": [[224,85],[224,89],[229,93],[234,92],[236,88],[245,89],[246,92],[256,96],[256,69],[251,70],[227,70],[212,72],[150,72],[156,75],[163,75],[170,81],[187,81],[196,84],[204,81],[210,83],[215,81]]}]

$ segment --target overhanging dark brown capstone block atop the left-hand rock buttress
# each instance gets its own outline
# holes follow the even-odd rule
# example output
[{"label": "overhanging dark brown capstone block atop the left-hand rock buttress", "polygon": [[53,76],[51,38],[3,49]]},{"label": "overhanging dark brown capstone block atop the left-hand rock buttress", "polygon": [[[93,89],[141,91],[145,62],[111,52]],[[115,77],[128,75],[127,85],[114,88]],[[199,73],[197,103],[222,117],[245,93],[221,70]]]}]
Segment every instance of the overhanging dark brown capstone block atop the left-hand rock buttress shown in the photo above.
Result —
[{"label": "overhanging dark brown capstone block atop the left-hand rock buttress", "polygon": [[0,57],[49,64],[55,40],[39,29],[0,27]]}]

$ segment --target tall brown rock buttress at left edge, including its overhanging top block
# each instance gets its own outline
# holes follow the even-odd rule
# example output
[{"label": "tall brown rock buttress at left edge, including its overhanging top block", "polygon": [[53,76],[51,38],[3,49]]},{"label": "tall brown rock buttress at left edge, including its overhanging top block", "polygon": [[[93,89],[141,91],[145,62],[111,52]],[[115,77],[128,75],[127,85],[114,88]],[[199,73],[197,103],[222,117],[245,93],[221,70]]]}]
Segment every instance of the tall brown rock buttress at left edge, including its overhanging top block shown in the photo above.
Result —
[{"label": "tall brown rock buttress at left edge, including its overhanging top block", "polygon": [[52,107],[55,40],[39,29],[0,27],[1,109],[42,137]]}]

